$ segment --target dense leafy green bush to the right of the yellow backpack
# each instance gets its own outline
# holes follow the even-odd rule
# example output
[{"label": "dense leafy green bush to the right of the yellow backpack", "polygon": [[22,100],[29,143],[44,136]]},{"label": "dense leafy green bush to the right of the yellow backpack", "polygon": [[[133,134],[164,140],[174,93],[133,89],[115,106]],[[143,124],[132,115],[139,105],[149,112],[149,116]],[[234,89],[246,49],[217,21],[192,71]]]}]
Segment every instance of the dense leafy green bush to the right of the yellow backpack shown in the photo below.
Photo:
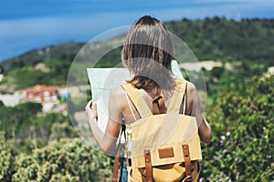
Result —
[{"label": "dense leafy green bush to the right of the yellow backpack", "polygon": [[213,141],[204,148],[202,179],[274,180],[273,77],[255,78],[244,92],[224,93],[207,109]]}]

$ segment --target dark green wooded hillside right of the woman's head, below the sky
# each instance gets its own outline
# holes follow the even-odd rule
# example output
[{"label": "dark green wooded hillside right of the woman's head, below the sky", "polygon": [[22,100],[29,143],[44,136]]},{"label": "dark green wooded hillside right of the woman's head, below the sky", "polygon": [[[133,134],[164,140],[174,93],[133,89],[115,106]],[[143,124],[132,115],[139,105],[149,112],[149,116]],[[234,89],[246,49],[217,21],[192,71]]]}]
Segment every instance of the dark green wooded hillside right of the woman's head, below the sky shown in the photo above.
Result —
[{"label": "dark green wooded hillside right of the woman's head, below the sky", "polygon": [[[181,37],[199,60],[269,63],[274,57],[274,19],[204,20],[168,22],[168,29]],[[273,64],[273,63],[272,63]]]}]

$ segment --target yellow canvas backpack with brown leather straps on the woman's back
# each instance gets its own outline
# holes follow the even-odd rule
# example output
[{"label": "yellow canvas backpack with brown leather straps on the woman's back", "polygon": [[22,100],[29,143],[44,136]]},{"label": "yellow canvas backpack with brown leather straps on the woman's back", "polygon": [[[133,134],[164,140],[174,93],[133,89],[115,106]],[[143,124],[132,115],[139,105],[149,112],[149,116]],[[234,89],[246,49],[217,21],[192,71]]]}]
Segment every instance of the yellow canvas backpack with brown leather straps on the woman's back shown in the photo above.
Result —
[{"label": "yellow canvas backpack with brown leather straps on the woman's back", "polygon": [[126,126],[128,181],[196,181],[202,159],[194,116],[179,114],[186,81],[176,79],[165,114],[153,115],[132,84],[122,85],[141,119]]}]

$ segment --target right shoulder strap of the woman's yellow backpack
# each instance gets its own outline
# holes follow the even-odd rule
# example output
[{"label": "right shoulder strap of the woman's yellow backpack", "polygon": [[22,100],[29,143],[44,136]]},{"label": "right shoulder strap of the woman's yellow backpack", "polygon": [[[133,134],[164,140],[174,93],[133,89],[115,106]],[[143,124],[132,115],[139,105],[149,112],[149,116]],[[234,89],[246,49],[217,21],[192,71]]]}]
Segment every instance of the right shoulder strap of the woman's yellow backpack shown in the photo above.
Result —
[{"label": "right shoulder strap of the woman's yellow backpack", "polygon": [[176,78],[176,86],[174,88],[174,95],[171,98],[170,104],[167,107],[167,113],[179,113],[185,92],[186,81],[184,79]]}]

